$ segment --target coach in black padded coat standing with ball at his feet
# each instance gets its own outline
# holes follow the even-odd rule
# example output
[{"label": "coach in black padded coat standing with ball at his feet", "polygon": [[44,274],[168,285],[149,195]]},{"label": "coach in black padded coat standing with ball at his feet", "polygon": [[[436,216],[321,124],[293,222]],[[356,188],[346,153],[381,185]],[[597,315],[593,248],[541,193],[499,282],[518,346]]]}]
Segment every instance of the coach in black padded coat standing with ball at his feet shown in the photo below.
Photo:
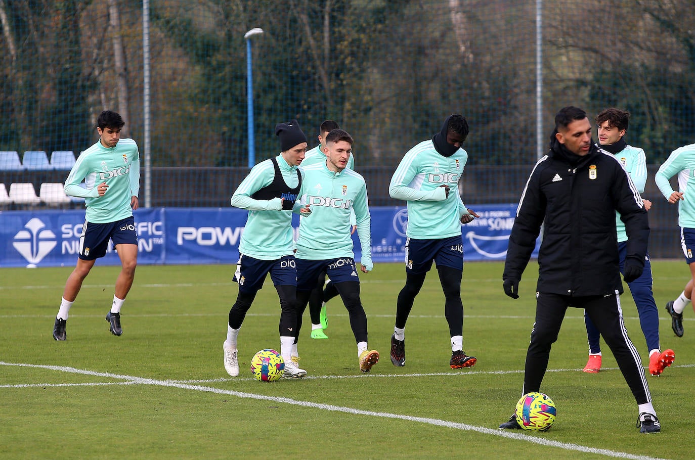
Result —
[{"label": "coach in black padded coat standing with ball at his feet", "polygon": [[[568,306],[585,309],[613,352],[638,404],[642,433],[660,432],[639,353],[623,323],[615,212],[628,234],[626,282],[644,269],[649,224],[644,203],[619,160],[591,141],[584,110],[565,107],[555,115],[550,151],[534,166],[509,236],[505,294],[518,298],[518,284],[545,224],[538,256],[536,318],[526,353],[523,392],[540,391],[550,347]],[[500,428],[521,428],[514,416]]]}]

